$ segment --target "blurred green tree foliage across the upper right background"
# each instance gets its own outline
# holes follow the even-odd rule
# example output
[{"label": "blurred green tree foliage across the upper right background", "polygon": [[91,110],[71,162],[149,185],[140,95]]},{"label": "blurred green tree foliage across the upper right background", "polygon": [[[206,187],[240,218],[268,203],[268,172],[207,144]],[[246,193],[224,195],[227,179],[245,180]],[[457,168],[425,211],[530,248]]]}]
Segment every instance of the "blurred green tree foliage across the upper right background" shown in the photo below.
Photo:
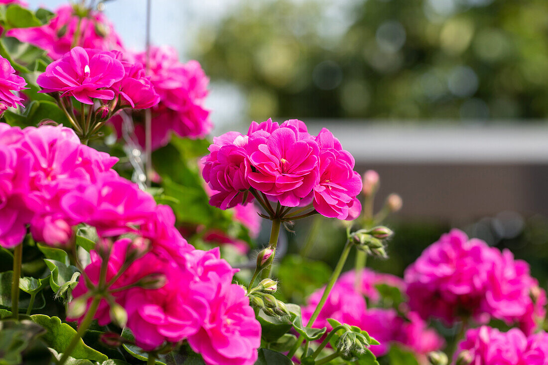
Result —
[{"label": "blurred green tree foliage across the upper right background", "polygon": [[249,117],[543,118],[548,2],[243,1],[195,56]]}]

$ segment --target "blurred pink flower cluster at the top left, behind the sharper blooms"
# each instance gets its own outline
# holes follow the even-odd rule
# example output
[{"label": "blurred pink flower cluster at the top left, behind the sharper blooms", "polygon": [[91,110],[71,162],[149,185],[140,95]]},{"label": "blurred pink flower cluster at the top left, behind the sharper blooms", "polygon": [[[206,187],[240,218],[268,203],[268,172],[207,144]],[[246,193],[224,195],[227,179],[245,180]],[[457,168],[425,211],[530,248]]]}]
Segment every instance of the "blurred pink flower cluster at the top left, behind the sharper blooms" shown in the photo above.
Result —
[{"label": "blurred pink flower cluster at the top left, behind the sharper blooms", "polygon": [[97,50],[123,48],[121,39],[104,15],[76,4],[55,10],[55,16],[46,25],[10,29],[7,36],[47,50],[54,60],[75,45]]}]

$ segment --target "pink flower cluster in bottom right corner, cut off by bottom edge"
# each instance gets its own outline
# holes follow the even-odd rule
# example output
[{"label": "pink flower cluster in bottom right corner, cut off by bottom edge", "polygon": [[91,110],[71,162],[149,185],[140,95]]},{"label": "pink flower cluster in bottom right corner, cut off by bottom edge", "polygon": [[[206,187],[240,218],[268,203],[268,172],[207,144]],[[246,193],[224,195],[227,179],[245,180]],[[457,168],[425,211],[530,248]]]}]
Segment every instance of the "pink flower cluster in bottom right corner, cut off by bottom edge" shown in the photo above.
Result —
[{"label": "pink flower cluster in bottom right corner, cut off by bottom edge", "polygon": [[463,365],[546,365],[548,334],[540,332],[527,337],[517,328],[500,332],[482,326],[466,332],[459,350],[459,363]]}]

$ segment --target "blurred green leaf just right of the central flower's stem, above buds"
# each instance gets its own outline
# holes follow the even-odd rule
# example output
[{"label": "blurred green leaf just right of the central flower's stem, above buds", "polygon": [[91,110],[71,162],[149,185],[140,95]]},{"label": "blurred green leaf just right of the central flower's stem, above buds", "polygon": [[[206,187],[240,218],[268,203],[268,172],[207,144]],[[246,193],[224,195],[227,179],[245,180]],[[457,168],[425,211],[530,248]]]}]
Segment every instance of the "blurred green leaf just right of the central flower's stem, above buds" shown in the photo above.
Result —
[{"label": "blurred green leaf just right of the central flower's stem, above buds", "polygon": [[276,276],[283,283],[279,286],[279,292],[283,298],[301,303],[327,283],[331,272],[331,268],[321,261],[303,259],[299,255],[287,255],[277,265]]}]

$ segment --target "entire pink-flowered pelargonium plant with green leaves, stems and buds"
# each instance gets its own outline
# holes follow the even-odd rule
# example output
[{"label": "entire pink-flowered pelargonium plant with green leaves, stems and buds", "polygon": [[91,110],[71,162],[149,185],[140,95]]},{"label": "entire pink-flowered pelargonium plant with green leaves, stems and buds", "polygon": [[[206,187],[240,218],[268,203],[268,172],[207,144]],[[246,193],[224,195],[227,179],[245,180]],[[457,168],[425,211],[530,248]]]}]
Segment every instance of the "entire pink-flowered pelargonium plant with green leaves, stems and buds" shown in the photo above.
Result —
[{"label": "entire pink-flowered pelargonium plant with green leaves, stems and buds", "polygon": [[[0,363],[548,364],[525,261],[452,230],[368,269],[402,208],[375,212],[378,173],[299,119],[207,139],[201,65],[129,52],[92,5],[0,1]],[[332,272],[308,257],[329,221]]]}]

